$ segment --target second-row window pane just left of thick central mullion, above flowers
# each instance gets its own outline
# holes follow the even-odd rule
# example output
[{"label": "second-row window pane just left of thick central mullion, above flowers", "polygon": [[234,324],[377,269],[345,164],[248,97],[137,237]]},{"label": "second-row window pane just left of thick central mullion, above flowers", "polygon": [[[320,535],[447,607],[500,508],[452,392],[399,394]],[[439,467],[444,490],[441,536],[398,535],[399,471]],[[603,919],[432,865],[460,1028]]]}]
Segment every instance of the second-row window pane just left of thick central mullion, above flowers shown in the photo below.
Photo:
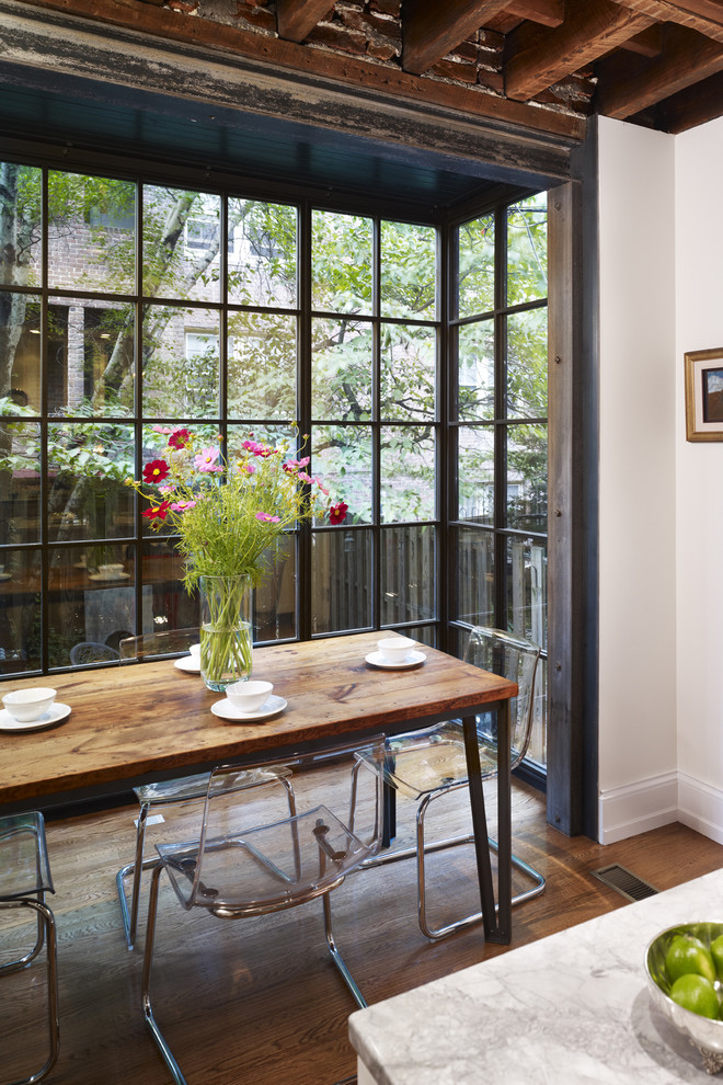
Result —
[{"label": "second-row window pane just left of thick central mullion, above flowers", "polygon": [[296,328],[280,313],[229,313],[229,418],[296,418]]}]

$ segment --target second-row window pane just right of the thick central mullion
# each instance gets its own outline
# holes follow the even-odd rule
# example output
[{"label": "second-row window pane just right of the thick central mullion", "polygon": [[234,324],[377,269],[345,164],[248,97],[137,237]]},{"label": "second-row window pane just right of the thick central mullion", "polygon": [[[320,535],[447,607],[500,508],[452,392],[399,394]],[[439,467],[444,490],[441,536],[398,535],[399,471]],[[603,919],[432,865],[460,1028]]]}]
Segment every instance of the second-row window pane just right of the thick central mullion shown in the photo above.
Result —
[{"label": "second-row window pane just right of the thick central mullion", "polygon": [[371,416],[371,324],[313,320],[311,414],[363,421]]}]

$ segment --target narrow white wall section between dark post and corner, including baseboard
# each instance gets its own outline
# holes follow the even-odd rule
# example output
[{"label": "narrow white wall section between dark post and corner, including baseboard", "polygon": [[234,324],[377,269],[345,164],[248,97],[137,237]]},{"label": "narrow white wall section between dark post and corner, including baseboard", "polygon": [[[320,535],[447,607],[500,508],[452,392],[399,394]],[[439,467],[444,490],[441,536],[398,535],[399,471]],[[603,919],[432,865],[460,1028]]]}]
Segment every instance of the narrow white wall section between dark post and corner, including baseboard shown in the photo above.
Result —
[{"label": "narrow white wall section between dark post and corner, including baseboard", "polygon": [[605,117],[598,136],[599,838],[610,843],[677,818],[681,419],[675,137]]}]

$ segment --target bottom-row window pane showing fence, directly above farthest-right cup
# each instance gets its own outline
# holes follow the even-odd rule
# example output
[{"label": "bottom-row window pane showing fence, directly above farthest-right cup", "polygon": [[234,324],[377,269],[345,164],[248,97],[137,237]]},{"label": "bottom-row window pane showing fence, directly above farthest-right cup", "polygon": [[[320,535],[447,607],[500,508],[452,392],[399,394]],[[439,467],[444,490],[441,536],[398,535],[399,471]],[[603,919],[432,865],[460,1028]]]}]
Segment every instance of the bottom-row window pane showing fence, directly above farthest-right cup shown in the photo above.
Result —
[{"label": "bottom-row window pane showing fence, directly above farthest-right cup", "polygon": [[382,626],[436,618],[436,529],[392,527],[381,533]]}]

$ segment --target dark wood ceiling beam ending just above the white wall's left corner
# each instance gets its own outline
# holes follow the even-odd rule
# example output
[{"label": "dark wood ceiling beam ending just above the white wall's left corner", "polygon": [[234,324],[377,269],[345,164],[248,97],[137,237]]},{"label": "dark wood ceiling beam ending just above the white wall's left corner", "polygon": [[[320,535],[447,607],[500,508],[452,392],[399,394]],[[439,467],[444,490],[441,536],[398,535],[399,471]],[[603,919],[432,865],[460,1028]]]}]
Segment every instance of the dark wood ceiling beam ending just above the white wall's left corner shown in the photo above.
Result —
[{"label": "dark wood ceiling beam ending just above the white wall's left corner", "polygon": [[640,61],[622,53],[596,65],[597,112],[624,121],[723,70],[723,44],[669,25],[659,57]]}]

